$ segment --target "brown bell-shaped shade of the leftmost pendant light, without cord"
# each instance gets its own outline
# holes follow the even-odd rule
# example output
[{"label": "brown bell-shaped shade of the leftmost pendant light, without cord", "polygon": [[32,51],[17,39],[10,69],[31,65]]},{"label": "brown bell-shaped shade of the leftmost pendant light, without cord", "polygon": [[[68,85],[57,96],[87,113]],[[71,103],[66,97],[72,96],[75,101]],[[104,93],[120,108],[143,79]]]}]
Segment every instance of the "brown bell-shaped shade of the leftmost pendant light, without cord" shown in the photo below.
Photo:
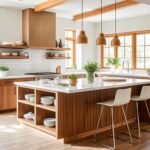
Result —
[{"label": "brown bell-shaped shade of the leftmost pendant light, without cord", "polygon": [[77,37],[77,43],[78,44],[87,44],[88,43],[88,39],[87,36],[85,34],[84,30],[81,30],[78,37]]}]

